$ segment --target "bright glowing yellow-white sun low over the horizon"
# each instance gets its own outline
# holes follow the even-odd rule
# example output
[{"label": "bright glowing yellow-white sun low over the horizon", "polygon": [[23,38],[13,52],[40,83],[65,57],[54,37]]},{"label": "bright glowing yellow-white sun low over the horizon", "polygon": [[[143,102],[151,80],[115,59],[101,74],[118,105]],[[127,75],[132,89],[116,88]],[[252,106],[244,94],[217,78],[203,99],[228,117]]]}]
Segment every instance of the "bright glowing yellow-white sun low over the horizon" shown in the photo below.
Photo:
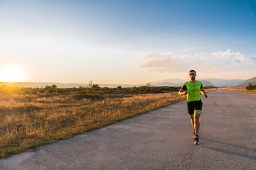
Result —
[{"label": "bright glowing yellow-white sun low over the horizon", "polygon": [[0,81],[2,82],[24,82],[25,72],[20,67],[10,65],[0,68]]}]

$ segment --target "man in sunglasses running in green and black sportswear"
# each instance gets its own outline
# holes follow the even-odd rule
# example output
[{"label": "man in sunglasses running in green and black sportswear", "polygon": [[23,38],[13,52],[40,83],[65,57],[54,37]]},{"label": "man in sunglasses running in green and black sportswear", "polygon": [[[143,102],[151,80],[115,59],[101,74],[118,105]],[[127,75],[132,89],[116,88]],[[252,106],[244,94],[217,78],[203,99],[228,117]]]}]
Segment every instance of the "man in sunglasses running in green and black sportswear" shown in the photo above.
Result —
[{"label": "man in sunglasses running in green and black sportswear", "polygon": [[186,101],[188,115],[191,118],[191,124],[193,127],[194,144],[199,145],[199,117],[201,115],[203,106],[203,103],[200,98],[200,93],[203,94],[205,98],[207,98],[208,96],[203,90],[203,84],[201,83],[201,81],[196,81],[196,71],[192,69],[188,72],[188,76],[191,80],[183,84],[180,91],[178,91],[178,95],[187,96]]}]

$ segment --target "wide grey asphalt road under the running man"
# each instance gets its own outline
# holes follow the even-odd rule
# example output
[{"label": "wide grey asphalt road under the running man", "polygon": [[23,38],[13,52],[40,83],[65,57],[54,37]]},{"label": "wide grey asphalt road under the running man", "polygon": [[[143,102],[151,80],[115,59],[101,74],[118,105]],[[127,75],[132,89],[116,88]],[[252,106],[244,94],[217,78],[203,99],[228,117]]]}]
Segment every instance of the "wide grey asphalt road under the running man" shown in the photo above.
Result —
[{"label": "wide grey asphalt road under the running man", "polygon": [[200,145],[181,101],[2,159],[0,169],[256,169],[256,95],[218,89],[202,101]]}]

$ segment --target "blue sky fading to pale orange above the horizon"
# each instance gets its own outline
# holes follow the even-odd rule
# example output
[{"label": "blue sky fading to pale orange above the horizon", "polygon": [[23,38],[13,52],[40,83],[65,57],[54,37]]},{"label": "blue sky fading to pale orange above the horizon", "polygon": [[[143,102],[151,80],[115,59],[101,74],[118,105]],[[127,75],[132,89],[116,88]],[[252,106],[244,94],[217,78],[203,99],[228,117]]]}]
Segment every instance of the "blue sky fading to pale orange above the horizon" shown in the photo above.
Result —
[{"label": "blue sky fading to pale orange above the horizon", "polygon": [[250,79],[255,16],[255,0],[0,0],[0,81]]}]

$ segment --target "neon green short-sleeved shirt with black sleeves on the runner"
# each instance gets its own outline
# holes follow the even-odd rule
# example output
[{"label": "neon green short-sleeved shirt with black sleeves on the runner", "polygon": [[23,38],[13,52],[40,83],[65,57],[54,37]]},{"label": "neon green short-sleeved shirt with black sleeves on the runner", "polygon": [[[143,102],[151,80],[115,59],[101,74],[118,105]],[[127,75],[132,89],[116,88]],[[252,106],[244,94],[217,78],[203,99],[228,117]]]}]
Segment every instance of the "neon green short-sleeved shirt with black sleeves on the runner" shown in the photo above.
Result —
[{"label": "neon green short-sleeved shirt with black sleeves on the runner", "polygon": [[187,81],[181,87],[183,91],[188,91],[187,101],[200,101],[200,91],[203,90],[203,84],[201,81],[196,81],[192,83],[191,81]]}]

